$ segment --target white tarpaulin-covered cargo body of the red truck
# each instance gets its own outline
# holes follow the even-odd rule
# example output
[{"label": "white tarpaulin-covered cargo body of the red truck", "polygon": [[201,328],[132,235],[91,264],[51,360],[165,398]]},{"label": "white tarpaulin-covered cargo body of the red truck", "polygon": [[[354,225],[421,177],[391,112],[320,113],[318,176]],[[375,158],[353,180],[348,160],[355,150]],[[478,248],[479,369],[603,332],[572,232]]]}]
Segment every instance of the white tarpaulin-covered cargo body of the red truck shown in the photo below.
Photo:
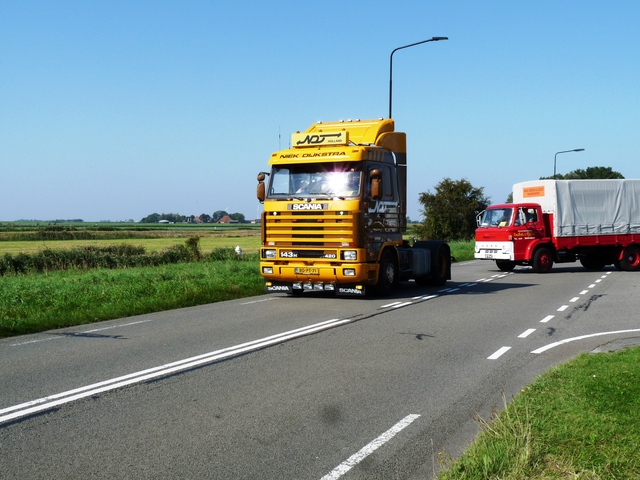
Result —
[{"label": "white tarpaulin-covered cargo body of the red truck", "polygon": [[640,180],[532,180],[513,186],[514,203],[538,203],[556,237],[640,234]]}]

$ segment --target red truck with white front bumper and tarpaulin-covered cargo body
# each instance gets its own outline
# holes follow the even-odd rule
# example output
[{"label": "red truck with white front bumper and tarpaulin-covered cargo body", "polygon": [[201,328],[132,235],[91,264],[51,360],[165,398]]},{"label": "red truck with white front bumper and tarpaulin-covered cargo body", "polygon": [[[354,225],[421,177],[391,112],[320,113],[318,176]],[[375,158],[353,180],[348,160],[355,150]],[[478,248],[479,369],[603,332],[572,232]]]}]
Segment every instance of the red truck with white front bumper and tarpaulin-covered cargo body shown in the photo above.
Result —
[{"label": "red truck with white front bumper and tarpaulin-covered cargo body", "polygon": [[478,215],[475,258],[505,272],[546,273],[576,260],[589,270],[640,270],[640,180],[522,182],[513,202]]}]

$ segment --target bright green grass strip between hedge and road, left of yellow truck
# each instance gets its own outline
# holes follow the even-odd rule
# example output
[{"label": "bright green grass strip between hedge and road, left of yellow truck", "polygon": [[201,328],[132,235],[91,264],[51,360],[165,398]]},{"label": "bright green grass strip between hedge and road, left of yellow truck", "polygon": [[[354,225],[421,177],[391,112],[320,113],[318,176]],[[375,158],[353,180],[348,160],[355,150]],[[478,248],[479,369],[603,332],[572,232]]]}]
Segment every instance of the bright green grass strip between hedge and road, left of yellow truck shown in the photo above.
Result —
[{"label": "bright green grass strip between hedge and road, left of yellow truck", "polygon": [[2,278],[0,337],[259,295],[258,260]]}]

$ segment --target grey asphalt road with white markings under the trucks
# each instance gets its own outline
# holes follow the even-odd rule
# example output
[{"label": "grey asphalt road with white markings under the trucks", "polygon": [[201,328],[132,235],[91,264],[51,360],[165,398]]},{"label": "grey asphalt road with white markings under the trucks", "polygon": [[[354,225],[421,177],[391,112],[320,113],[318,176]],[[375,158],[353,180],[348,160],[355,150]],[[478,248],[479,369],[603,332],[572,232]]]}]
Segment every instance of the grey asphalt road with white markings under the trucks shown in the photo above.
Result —
[{"label": "grey asphalt road with white markings under the trucks", "polygon": [[424,479],[503,398],[640,338],[640,276],[454,265],[0,341],[2,478]]}]

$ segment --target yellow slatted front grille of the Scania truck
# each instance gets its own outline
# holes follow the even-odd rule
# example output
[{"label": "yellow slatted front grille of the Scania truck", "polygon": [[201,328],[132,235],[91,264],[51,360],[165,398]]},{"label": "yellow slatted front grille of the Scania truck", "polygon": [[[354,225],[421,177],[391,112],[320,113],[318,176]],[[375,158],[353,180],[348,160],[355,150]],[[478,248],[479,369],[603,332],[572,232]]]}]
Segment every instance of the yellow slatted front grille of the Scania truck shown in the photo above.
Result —
[{"label": "yellow slatted front grille of the Scania truck", "polygon": [[267,245],[277,247],[342,247],[354,245],[357,232],[351,212],[283,211],[266,215]]}]

